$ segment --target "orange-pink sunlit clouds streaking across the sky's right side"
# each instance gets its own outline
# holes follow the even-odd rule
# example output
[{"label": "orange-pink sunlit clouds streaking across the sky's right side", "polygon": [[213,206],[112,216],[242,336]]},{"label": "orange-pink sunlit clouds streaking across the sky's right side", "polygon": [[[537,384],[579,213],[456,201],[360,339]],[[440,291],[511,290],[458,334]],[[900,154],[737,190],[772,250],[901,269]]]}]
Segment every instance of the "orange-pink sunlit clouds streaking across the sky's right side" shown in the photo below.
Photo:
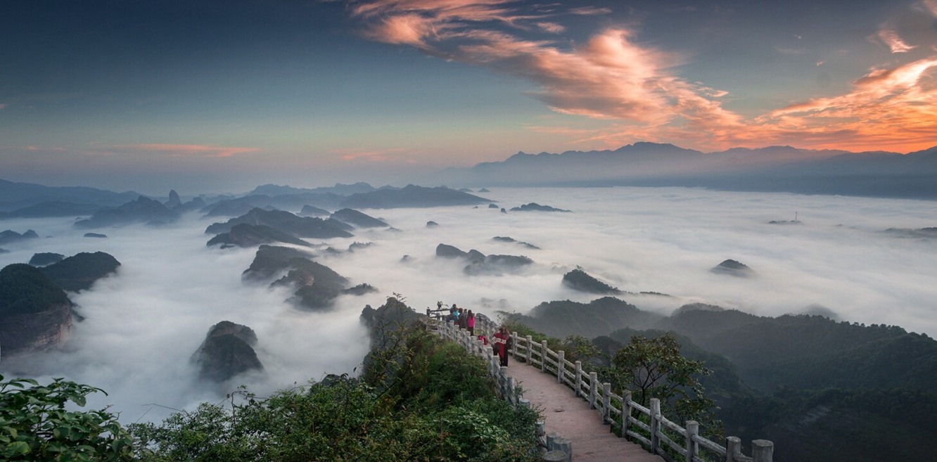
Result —
[{"label": "orange-pink sunlit clouds streaking across the sky's right side", "polygon": [[[610,13],[606,8],[558,9],[549,14],[550,22],[543,22],[543,10],[528,14],[521,11],[522,4],[505,0],[350,4],[366,37],[520,77],[537,84],[530,96],[553,111],[609,121],[591,132],[575,130],[583,136],[572,143],[617,147],[635,141],[677,142],[702,149],[791,143],[907,152],[937,142],[932,124],[937,85],[930,72],[937,55],[920,59],[917,53],[915,62],[873,68],[844,95],[812,98],[746,118],[724,107],[728,90],[679,77],[676,67],[682,63],[676,54],[641,43],[633,27],[606,26],[581,45],[561,37],[526,37],[531,31],[561,34],[566,31],[564,16]],[[937,0],[921,5],[937,14]],[[918,48],[891,27],[883,26],[874,38],[892,53]]]}]

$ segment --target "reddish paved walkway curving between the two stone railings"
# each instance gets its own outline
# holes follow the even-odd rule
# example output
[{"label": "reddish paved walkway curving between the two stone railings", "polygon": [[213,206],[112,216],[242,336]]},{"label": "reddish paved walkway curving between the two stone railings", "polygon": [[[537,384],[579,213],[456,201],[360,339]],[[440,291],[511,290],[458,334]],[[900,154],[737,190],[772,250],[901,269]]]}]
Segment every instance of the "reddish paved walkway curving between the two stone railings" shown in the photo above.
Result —
[{"label": "reddish paved walkway curving between the two stone railings", "polygon": [[573,390],[557,383],[552,374],[543,374],[539,368],[512,361],[508,375],[524,389],[530,404],[543,410],[546,432],[558,432],[573,442],[573,460],[576,462],[663,462],[660,455],[652,455],[640,445],[611,433],[611,425],[602,424],[602,415],[590,410],[588,402],[573,395]]}]

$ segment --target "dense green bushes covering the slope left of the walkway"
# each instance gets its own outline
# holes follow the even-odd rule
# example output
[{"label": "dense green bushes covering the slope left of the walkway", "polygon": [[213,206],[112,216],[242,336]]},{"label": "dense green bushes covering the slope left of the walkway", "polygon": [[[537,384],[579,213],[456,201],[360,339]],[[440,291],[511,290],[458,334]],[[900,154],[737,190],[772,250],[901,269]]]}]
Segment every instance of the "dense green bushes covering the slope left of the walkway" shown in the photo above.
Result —
[{"label": "dense green bushes covering the slope left of the walkway", "polygon": [[535,460],[537,412],[499,398],[481,359],[419,328],[394,335],[362,380],[242,390],[131,431],[153,461]]}]

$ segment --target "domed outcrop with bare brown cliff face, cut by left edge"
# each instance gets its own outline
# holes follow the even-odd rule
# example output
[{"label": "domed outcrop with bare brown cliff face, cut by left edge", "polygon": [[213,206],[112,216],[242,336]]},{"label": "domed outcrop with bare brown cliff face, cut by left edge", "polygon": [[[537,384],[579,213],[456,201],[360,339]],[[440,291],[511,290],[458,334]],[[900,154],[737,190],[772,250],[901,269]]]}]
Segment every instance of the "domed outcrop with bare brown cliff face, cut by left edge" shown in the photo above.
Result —
[{"label": "domed outcrop with bare brown cliff face, cut by left edge", "polygon": [[60,348],[71,329],[71,301],[25,263],[0,270],[0,348],[14,355]]}]

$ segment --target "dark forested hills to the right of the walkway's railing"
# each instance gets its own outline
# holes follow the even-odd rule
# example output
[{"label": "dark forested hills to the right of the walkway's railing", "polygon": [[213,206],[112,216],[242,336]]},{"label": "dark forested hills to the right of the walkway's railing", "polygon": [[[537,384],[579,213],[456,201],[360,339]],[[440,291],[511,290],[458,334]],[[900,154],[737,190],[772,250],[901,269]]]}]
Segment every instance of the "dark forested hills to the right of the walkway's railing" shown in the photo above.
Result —
[{"label": "dark forested hills to the right of the walkway's railing", "polygon": [[560,338],[587,335],[606,354],[633,335],[673,333],[684,355],[713,371],[700,379],[727,433],[774,441],[779,460],[931,458],[923,449],[937,439],[937,341],[930,336],[702,305],[653,319],[616,300],[555,301],[509,317]]}]

